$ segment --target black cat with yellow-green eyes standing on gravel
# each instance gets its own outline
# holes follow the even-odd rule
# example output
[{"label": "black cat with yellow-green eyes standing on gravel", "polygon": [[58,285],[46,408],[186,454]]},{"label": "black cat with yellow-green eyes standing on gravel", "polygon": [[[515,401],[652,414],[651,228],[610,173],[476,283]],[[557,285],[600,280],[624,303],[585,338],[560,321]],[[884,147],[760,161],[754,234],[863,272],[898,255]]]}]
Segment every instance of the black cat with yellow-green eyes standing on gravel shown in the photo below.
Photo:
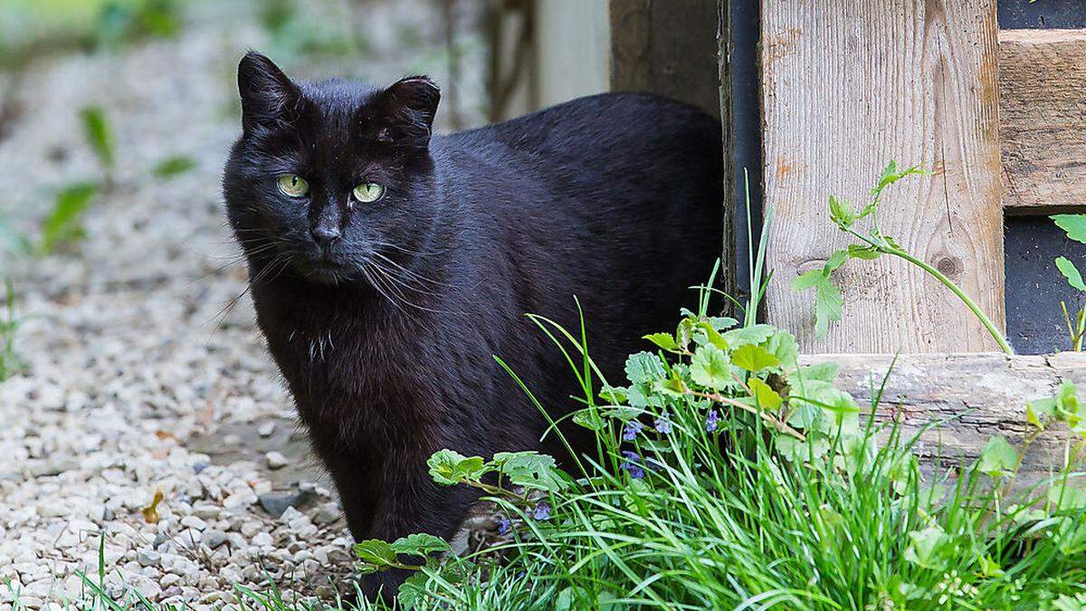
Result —
[{"label": "black cat with yellow-green eyes standing on gravel", "polygon": [[[454,533],[475,495],[430,479],[435,450],[560,460],[492,358],[552,416],[577,407],[567,362],[526,313],[576,329],[579,298],[592,356],[620,383],[718,257],[720,125],[692,107],[601,95],[438,136],[440,92],[422,76],[294,83],[250,52],[238,86],[227,213],[355,538]],[[563,432],[588,449],[583,429]]]}]

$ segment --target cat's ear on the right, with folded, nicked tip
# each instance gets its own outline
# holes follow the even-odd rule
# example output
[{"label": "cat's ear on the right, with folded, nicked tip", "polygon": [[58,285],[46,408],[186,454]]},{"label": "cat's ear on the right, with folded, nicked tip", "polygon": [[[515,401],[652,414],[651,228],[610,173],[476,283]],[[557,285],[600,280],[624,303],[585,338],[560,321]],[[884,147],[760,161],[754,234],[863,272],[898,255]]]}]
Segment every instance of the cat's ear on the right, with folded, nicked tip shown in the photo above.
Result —
[{"label": "cat's ear on the right, with folded, nicked tip", "polygon": [[381,92],[377,110],[384,120],[377,139],[412,151],[430,145],[441,89],[426,76],[408,76]]}]

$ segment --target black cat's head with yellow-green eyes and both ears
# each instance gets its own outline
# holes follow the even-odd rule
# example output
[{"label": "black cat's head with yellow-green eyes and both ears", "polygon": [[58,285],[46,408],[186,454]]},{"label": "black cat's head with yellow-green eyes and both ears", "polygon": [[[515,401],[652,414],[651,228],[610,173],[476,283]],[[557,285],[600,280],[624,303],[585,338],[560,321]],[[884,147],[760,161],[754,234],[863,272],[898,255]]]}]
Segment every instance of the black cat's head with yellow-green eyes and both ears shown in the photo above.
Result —
[{"label": "black cat's head with yellow-green eyes and both ears", "polygon": [[429,153],[441,95],[425,76],[388,88],[296,83],[249,52],[242,135],[223,178],[254,272],[359,283],[414,250],[434,216]]}]

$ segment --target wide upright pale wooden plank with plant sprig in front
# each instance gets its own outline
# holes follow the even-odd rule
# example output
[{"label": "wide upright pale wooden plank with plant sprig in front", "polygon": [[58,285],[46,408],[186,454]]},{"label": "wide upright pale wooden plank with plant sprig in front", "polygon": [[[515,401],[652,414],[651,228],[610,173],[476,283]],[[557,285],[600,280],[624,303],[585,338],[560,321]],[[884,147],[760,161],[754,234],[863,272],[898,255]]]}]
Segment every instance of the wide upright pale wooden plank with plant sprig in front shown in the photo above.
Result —
[{"label": "wide upright pale wooden plank with plant sprig in front", "polygon": [[807,351],[993,349],[949,291],[900,260],[839,272],[844,320],[822,341],[812,296],[791,283],[848,241],[830,223],[830,194],[866,201],[888,160],[919,163],[938,173],[887,192],[884,233],[1003,324],[995,0],[761,7],[769,321]]}]

